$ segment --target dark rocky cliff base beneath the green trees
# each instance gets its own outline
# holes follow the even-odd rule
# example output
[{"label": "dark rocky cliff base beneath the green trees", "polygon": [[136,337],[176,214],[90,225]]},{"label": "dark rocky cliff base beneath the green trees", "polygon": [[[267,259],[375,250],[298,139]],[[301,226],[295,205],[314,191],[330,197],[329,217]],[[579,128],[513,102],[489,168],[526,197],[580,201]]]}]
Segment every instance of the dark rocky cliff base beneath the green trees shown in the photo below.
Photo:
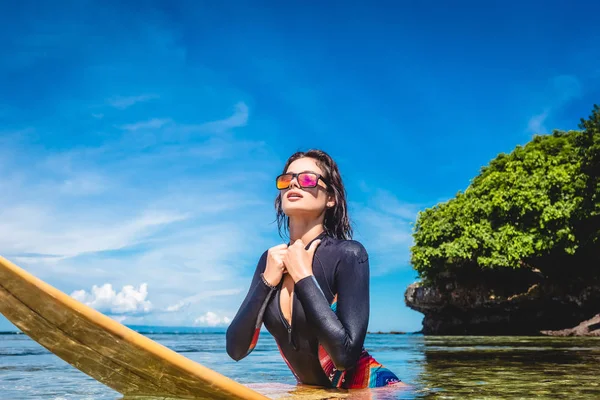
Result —
[{"label": "dark rocky cliff base beneath the green trees", "polygon": [[431,286],[413,283],[405,302],[424,314],[422,332],[435,335],[558,335],[553,331],[573,328],[598,313],[600,282],[535,281],[519,277],[508,285],[493,276],[477,282],[445,277]]}]

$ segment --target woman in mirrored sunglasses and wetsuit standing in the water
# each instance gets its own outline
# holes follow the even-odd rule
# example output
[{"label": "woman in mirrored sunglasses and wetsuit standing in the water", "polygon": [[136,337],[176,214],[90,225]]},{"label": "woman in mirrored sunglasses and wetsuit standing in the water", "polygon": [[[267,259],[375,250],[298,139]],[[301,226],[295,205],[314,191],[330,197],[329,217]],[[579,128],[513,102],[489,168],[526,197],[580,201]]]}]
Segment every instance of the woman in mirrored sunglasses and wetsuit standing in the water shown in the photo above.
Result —
[{"label": "woman in mirrored sunglasses and wetsuit standing in the water", "polygon": [[369,322],[369,258],[350,240],[346,193],[325,152],[293,154],[276,180],[281,234],[290,244],[265,251],[227,329],[236,361],[256,346],[262,323],[299,383],[345,389],[400,380],[364,349]]}]

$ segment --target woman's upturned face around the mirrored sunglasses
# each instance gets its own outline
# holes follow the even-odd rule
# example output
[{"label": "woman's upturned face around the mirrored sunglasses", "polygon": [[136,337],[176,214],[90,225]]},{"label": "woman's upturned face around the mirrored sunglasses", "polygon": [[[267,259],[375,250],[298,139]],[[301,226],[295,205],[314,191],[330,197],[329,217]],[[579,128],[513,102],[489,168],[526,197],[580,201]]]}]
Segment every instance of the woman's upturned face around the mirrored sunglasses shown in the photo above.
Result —
[{"label": "woman's upturned face around the mirrored sunglasses", "polygon": [[[317,166],[314,159],[309,157],[293,161],[285,172],[314,172],[323,175],[323,170]],[[302,188],[298,183],[298,177],[295,177],[287,189],[280,190],[279,195],[281,208],[288,217],[317,218],[327,207],[335,204],[333,196],[327,193],[327,185],[322,179],[317,181],[317,186],[314,188]]]}]

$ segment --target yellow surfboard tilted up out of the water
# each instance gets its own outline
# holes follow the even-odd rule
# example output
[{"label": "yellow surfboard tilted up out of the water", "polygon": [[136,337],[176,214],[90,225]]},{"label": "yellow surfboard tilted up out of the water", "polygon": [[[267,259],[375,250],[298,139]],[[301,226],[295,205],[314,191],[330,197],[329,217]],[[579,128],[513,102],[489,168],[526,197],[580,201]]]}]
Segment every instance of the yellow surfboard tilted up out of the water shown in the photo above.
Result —
[{"label": "yellow surfboard tilted up out of the water", "polygon": [[58,357],[125,396],[267,399],[78,302],[3,257],[0,313]]}]

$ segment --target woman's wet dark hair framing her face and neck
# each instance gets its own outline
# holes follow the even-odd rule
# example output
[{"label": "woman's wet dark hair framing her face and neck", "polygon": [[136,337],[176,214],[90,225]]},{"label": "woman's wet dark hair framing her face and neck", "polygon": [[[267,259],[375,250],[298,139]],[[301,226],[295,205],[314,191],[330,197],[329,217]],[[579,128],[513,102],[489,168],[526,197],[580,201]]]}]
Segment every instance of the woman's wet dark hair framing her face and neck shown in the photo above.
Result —
[{"label": "woman's wet dark hair framing her face and neck", "polygon": [[[322,150],[311,149],[306,152],[298,151],[288,158],[283,173],[285,173],[290,164],[299,158],[312,158],[316,161],[317,166],[323,171],[323,177],[327,181],[327,193],[332,194],[335,198],[335,205],[325,210],[325,218],[323,227],[325,232],[336,239],[352,239],[352,227],[348,218],[348,206],[346,204],[346,189],[342,182],[342,176],[338,170],[338,166],[329,156]],[[283,212],[281,207],[281,196],[278,194],[275,198],[275,210],[277,211],[277,227],[279,236],[283,238],[282,230],[289,233],[289,218]]]}]

